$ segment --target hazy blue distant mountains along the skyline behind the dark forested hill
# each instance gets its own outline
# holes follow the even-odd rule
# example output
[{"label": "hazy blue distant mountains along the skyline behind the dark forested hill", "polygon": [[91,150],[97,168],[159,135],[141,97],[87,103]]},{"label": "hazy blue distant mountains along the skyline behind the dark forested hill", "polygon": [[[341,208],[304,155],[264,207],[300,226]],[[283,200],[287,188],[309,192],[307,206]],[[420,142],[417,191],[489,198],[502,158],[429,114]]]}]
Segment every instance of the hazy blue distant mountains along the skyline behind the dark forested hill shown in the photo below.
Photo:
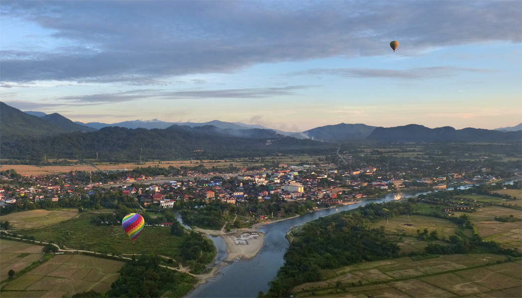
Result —
[{"label": "hazy blue distant mountains along the skyline behind the dark forested hill", "polygon": [[[102,129],[104,127],[124,127],[130,129],[145,128],[145,129],[166,129],[173,125],[186,126],[192,128],[216,127],[215,134],[228,134],[230,136],[248,137],[249,134],[257,136],[266,135],[267,137],[273,133],[280,136],[289,136],[296,139],[310,138],[316,141],[323,142],[346,142],[350,140],[388,140],[388,141],[477,141],[477,140],[509,140],[517,139],[516,134],[499,134],[498,132],[516,132],[522,129],[522,123],[513,127],[497,128],[495,130],[478,129],[478,128],[464,128],[455,129],[453,127],[445,126],[438,128],[428,128],[422,125],[410,124],[406,126],[397,127],[376,127],[366,124],[346,124],[340,123],[336,125],[326,125],[315,127],[304,132],[285,132],[283,130],[267,128],[259,124],[245,124],[241,122],[224,122],[213,120],[209,122],[165,122],[158,119],[142,121],[124,121],[118,123],[101,123],[101,122],[72,122],[60,114],[54,113],[47,115],[43,112],[27,111],[26,113],[39,116],[42,119],[56,124],[67,132],[90,132],[93,129]],[[76,125],[75,125],[76,124]],[[219,128],[219,129],[218,129]],[[258,130],[253,130],[258,129]],[[271,133],[267,133],[270,131]],[[263,133],[261,133],[263,132]]]}]

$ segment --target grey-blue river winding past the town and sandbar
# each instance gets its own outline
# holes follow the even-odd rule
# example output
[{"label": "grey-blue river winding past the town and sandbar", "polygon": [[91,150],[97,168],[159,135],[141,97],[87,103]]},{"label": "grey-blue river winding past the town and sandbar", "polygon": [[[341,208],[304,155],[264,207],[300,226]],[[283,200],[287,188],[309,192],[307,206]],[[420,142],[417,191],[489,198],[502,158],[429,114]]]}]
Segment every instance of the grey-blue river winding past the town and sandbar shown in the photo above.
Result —
[{"label": "grey-blue river winding past the town and sandbar", "polygon": [[[509,183],[512,184],[513,181],[508,181],[505,184]],[[471,186],[459,188],[469,187]],[[364,199],[356,204],[307,213],[300,217],[264,225],[259,228],[259,231],[266,234],[265,243],[253,259],[235,260],[230,265],[219,268],[216,276],[199,285],[188,294],[188,297],[257,297],[259,291],[266,292],[268,290],[268,282],[276,278],[277,271],[283,266],[283,256],[289,246],[286,234],[294,227],[372,202],[394,200],[397,195],[400,195],[401,198],[409,198],[427,193],[430,192],[404,190],[378,198]],[[217,256],[213,264],[220,264],[227,257],[227,247],[221,237],[210,236],[210,238],[217,249]]]}]

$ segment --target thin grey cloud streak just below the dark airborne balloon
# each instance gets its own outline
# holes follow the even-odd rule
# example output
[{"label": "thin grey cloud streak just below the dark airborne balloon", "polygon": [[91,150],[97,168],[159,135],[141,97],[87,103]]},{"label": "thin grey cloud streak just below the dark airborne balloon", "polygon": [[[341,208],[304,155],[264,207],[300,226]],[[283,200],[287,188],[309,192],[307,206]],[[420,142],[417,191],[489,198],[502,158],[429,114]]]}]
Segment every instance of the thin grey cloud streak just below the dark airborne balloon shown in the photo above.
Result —
[{"label": "thin grey cloud streak just below the dark airborne balloon", "polygon": [[392,79],[430,79],[457,75],[461,71],[487,72],[489,69],[435,66],[409,69],[384,69],[384,68],[312,68],[290,73],[292,76],[300,75],[329,75],[353,78],[392,78]]}]

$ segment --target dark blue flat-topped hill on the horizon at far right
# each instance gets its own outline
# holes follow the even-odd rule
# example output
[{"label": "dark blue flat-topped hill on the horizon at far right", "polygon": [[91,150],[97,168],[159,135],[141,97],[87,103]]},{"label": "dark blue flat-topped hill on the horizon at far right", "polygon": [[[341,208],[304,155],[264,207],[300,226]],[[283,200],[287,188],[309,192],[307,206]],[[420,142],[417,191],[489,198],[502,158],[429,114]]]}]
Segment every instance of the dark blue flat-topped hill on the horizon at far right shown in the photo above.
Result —
[{"label": "dark blue flat-topped hill on the horizon at far right", "polygon": [[501,132],[499,130],[463,128],[450,126],[429,128],[417,124],[396,127],[377,127],[368,136],[378,141],[520,141],[522,132]]}]

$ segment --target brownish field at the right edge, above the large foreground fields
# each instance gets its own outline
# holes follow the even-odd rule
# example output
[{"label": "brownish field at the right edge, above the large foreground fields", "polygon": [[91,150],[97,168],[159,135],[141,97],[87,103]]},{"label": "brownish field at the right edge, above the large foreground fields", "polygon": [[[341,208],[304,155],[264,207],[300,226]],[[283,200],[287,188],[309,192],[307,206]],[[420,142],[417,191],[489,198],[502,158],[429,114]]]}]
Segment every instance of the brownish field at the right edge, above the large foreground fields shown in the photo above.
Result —
[{"label": "brownish field at the right edge, above the large foreground fields", "polygon": [[495,217],[510,216],[522,219],[520,210],[504,207],[479,208],[473,213],[455,213],[455,216],[467,214],[479,235],[485,240],[493,240],[508,248],[522,251],[522,224],[518,222],[500,222]]}]

